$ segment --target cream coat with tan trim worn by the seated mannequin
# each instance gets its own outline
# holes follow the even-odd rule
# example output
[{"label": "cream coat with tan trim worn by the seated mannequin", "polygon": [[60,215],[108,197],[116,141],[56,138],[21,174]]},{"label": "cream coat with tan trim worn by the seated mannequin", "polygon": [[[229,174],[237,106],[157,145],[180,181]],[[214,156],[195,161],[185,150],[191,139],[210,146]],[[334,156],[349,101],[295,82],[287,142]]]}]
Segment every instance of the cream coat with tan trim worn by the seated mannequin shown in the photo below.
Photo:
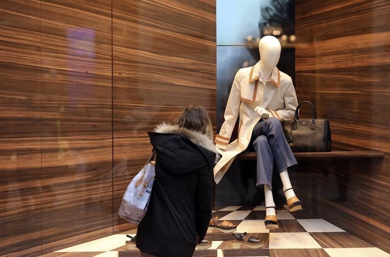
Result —
[{"label": "cream coat with tan trim worn by the seated mannequin", "polygon": [[[292,119],[298,106],[292,79],[286,73],[273,69],[269,81],[259,80],[259,62],[252,67],[240,69],[234,77],[225,110],[225,122],[215,136],[221,159],[214,167],[215,183],[219,183],[237,154],[244,151],[252,136],[252,130],[260,120],[256,106],[268,111],[269,117],[280,121]],[[239,118],[238,139],[229,144],[234,125]]]}]

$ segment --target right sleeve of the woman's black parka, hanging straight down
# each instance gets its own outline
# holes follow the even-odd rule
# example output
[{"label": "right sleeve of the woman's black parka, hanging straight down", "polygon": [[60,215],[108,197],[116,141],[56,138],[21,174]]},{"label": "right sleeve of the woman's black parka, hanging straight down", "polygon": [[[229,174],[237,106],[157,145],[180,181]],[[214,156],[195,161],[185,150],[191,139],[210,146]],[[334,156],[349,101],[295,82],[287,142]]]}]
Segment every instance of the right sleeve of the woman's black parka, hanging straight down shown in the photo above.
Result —
[{"label": "right sleeve of the woman's black parka, hanging straight down", "polygon": [[195,196],[196,233],[199,241],[206,236],[211,219],[211,205],[213,198],[213,171],[209,166],[199,170]]}]

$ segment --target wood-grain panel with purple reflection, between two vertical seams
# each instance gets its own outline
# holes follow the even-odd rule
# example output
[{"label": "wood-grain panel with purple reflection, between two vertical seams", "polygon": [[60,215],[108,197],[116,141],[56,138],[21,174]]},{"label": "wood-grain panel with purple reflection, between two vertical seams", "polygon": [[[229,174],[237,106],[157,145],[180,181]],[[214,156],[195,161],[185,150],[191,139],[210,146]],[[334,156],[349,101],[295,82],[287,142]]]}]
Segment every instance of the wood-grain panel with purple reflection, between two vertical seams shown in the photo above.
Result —
[{"label": "wood-grain panel with purple reflection, between two vertical seams", "polygon": [[112,234],[111,2],[41,1],[41,21],[45,254]]}]

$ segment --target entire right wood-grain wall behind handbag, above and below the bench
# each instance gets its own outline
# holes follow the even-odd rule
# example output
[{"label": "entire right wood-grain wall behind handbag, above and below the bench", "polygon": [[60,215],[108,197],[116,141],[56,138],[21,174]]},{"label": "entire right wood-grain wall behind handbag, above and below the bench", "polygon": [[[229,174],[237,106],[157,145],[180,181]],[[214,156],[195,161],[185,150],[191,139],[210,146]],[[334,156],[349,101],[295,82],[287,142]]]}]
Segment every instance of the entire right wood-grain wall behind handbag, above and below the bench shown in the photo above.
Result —
[{"label": "entire right wood-grain wall behind handbag, above and below the bench", "polygon": [[300,195],[313,214],[387,252],[389,13],[388,0],[296,1],[295,12],[298,101],[312,101],[317,116],[330,120],[333,149],[385,152],[379,160],[298,166]]}]

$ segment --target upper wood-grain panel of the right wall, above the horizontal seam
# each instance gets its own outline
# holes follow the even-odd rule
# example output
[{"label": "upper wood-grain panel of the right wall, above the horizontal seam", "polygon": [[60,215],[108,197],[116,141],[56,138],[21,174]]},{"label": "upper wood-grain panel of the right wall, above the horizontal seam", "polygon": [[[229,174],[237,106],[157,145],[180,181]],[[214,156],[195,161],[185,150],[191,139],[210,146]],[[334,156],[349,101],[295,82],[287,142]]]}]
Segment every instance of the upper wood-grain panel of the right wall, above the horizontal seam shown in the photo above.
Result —
[{"label": "upper wood-grain panel of the right wall, above the horizontal seam", "polygon": [[295,70],[389,70],[389,11],[387,0],[297,2]]}]

